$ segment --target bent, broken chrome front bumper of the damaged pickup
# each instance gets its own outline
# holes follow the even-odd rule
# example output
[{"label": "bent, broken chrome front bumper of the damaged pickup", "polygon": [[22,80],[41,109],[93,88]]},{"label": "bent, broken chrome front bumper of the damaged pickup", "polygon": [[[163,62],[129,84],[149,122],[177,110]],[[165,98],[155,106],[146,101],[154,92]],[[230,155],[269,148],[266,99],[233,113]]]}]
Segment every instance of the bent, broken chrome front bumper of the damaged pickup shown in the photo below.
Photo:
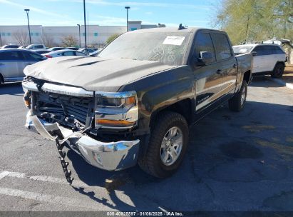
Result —
[{"label": "bent, broken chrome front bumper of the damaged pickup", "polygon": [[30,131],[36,131],[44,138],[51,140],[56,138],[50,132],[61,132],[64,138],[62,142],[68,143],[73,151],[76,151],[91,165],[107,171],[118,171],[135,166],[138,159],[139,139],[105,143],[91,138],[85,133],[73,132],[58,123],[47,123],[32,115],[30,111],[26,115],[25,126]]}]

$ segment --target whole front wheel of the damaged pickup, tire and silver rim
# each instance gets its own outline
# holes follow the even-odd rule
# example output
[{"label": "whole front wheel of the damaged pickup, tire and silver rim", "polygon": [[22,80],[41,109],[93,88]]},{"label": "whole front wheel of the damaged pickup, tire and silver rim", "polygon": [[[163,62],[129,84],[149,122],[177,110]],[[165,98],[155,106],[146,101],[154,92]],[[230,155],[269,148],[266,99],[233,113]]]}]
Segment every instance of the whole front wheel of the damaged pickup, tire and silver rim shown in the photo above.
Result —
[{"label": "whole front wheel of the damaged pickup, tire and silver rim", "polygon": [[152,176],[171,176],[183,161],[188,143],[188,125],[179,113],[159,114],[151,128],[150,142],[145,156],[138,161],[140,168]]}]

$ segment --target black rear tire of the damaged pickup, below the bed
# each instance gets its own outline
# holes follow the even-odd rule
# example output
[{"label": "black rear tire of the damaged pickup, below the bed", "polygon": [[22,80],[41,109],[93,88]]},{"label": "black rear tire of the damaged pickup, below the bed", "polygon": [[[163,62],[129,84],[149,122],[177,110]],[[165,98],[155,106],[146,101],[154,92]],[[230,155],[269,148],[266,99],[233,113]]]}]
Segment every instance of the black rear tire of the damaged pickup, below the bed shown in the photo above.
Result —
[{"label": "black rear tire of the damaged pickup, below the bed", "polygon": [[[245,92],[243,92],[245,91]],[[244,95],[244,101],[242,101],[242,95]],[[247,96],[247,83],[245,80],[242,81],[242,86],[237,94],[235,94],[230,100],[229,100],[229,109],[231,111],[241,111],[246,102],[246,96]]]}]

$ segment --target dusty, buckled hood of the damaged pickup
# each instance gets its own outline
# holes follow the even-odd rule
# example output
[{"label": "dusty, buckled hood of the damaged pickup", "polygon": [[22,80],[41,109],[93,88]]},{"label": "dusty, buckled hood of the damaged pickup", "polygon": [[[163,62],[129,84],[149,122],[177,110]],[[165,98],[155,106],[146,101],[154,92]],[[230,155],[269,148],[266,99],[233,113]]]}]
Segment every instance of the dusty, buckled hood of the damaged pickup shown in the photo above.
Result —
[{"label": "dusty, buckled hood of the damaged pickup", "polygon": [[115,92],[132,81],[175,67],[156,61],[64,56],[26,66],[24,74],[87,91]]}]

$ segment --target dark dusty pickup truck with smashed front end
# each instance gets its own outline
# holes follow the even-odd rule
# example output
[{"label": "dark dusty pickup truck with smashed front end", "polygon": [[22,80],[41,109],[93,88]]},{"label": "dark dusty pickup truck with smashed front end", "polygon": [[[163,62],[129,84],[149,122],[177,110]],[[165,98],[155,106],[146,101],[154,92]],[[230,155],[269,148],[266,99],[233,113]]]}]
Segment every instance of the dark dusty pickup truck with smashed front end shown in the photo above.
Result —
[{"label": "dark dusty pickup truck with smashed front end", "polygon": [[190,125],[226,101],[232,111],[243,109],[251,62],[251,54],[233,54],[223,31],[131,31],[97,57],[27,66],[26,128],[56,140],[59,149],[67,143],[98,168],[139,163],[165,178],[183,161]]}]

